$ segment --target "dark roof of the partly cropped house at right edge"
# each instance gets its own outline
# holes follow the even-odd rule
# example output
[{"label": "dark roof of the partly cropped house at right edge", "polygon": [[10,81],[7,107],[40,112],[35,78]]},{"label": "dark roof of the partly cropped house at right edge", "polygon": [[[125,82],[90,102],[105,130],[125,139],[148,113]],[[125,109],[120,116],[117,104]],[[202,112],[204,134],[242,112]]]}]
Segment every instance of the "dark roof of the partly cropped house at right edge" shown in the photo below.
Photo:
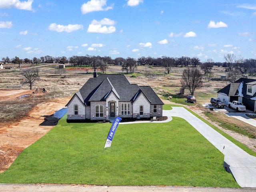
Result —
[{"label": "dark roof of the partly cropped house at right edge", "polygon": [[255,97],[256,93],[253,96],[246,94],[247,93],[246,84],[254,85],[256,84],[256,79],[240,78],[234,83],[228,84],[226,87],[222,88],[217,93],[226,94],[228,96],[244,96],[245,98]]}]

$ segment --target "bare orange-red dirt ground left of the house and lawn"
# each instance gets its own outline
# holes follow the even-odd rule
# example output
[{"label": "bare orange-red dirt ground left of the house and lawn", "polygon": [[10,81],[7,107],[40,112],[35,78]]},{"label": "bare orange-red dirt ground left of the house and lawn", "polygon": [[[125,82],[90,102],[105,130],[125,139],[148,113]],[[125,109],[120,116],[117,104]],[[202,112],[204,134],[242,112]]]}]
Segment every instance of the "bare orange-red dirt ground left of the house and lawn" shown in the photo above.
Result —
[{"label": "bare orange-red dirt ground left of the house and lawn", "polygon": [[[15,99],[34,90],[0,90],[1,99]],[[34,107],[22,120],[17,123],[4,123],[0,128],[0,172],[10,167],[12,162],[26,147],[44,136],[54,126],[40,126],[44,116],[54,114],[64,108],[70,98],[52,99]]]}]

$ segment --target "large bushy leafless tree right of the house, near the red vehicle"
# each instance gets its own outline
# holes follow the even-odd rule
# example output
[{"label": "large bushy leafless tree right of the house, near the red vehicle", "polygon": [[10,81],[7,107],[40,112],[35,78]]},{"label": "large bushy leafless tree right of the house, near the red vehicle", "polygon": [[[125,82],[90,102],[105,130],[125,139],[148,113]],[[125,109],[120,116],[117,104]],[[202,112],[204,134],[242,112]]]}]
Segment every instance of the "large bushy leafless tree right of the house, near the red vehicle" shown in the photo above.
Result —
[{"label": "large bushy leafless tree right of the house, near the red vehicle", "polygon": [[202,86],[202,74],[197,68],[186,68],[183,70],[181,85],[188,88],[191,95],[194,91]]}]

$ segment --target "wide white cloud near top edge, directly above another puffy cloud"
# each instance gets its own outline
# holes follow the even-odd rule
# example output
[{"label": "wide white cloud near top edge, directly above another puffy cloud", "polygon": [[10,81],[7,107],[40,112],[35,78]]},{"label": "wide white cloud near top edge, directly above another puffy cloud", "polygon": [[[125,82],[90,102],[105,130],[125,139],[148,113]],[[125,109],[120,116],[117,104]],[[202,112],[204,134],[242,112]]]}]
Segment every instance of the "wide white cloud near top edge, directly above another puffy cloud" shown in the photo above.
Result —
[{"label": "wide white cloud near top edge, directly above another puffy cloud", "polygon": [[113,9],[112,6],[105,7],[107,0],[90,0],[87,3],[82,4],[81,12],[82,14],[94,12],[94,11],[107,11]]}]

